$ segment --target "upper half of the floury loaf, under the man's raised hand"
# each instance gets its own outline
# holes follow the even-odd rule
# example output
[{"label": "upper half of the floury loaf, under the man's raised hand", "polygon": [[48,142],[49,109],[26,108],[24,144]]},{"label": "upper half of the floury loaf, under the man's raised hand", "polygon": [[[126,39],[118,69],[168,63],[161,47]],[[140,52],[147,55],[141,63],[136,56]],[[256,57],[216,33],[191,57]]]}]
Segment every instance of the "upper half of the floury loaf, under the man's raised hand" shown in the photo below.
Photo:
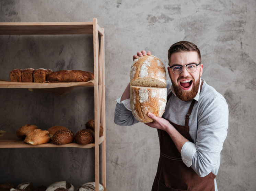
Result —
[{"label": "upper half of the floury loaf, under the man's raised hand", "polygon": [[130,85],[165,87],[166,70],[162,61],[152,55],[134,59],[130,69]]}]

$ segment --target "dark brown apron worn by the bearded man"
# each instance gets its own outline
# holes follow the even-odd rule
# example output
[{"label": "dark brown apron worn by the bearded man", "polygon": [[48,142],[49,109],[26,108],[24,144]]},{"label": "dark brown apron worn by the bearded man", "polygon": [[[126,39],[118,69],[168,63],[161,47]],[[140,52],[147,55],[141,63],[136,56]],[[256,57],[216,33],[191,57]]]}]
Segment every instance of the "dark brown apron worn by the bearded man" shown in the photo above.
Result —
[{"label": "dark brown apron worn by the bearded man", "polygon": [[[202,88],[203,81],[200,86]],[[167,102],[172,92],[167,96]],[[188,113],[185,115],[185,125],[177,125],[169,121],[179,133],[193,142],[189,134],[189,118],[195,104],[193,99]],[[212,172],[205,177],[199,177],[196,172],[187,167],[181,158],[177,147],[167,132],[158,129],[160,142],[160,158],[158,169],[153,182],[152,191],[214,191],[214,178]]]}]

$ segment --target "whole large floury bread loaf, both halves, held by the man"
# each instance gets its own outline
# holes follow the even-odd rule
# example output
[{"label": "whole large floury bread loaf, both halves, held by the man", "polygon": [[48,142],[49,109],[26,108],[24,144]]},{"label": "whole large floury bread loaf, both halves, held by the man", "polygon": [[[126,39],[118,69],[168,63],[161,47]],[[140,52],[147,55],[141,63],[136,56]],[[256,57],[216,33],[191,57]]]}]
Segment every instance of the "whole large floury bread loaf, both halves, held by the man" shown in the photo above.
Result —
[{"label": "whole large floury bread loaf, both halves, held by the man", "polygon": [[133,60],[130,70],[131,111],[142,123],[153,122],[148,112],[162,117],[166,105],[166,70],[162,61],[152,55]]}]

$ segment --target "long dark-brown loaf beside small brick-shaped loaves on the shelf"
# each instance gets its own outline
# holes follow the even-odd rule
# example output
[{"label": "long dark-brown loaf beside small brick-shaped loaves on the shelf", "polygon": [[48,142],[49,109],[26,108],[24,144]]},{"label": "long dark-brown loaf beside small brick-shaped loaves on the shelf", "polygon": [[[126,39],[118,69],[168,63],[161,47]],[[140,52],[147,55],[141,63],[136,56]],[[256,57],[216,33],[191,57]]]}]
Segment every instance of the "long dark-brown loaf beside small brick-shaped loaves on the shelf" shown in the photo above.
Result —
[{"label": "long dark-brown loaf beside small brick-shaped loaves on the shelf", "polygon": [[60,70],[49,74],[49,82],[88,82],[94,79],[92,72],[82,70]]}]

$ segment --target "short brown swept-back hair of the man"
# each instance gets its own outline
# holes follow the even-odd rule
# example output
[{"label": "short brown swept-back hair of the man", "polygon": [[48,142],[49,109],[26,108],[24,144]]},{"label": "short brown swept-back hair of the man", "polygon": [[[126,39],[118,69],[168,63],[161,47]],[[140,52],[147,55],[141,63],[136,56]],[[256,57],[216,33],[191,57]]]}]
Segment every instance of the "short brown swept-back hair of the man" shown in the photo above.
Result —
[{"label": "short brown swept-back hair of the man", "polygon": [[192,42],[189,41],[179,41],[174,43],[170,49],[168,50],[168,60],[170,62],[170,58],[172,53],[175,52],[190,52],[190,51],[195,51],[198,54],[198,58],[201,62],[201,53],[200,50],[198,49],[197,45],[195,45]]}]

